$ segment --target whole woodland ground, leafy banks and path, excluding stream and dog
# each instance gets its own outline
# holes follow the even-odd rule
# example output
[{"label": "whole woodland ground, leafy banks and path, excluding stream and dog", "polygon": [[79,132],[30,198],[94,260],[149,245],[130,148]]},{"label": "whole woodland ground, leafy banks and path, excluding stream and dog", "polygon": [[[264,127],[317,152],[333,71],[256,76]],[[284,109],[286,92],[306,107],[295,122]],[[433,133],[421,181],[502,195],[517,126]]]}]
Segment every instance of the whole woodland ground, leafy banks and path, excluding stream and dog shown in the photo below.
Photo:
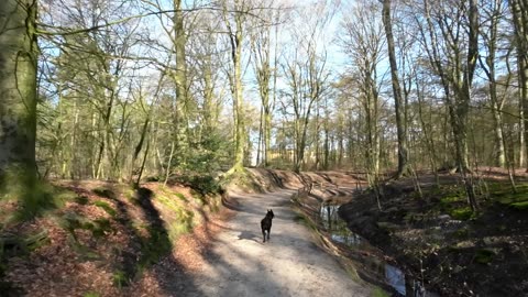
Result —
[{"label": "whole woodland ground, leafy banks and path, excluding stream and dog", "polygon": [[[428,290],[528,296],[526,173],[516,173],[514,194],[507,173],[482,170],[475,180],[481,209],[472,212],[460,178],[449,173],[439,185],[426,173],[418,183],[391,180],[380,210],[372,193],[354,191],[365,186],[361,174],[250,172],[261,194],[235,185],[229,197],[182,184],[132,190],[102,182],[55,183],[55,207],[20,223],[10,220],[20,206],[1,200],[0,296],[378,294],[342,257],[323,251],[336,254],[336,245],[304,217],[317,220],[321,202],[336,197],[349,228]],[[307,185],[314,185],[308,202],[290,199]],[[275,219],[271,241],[263,243],[260,220],[267,209]]]}]

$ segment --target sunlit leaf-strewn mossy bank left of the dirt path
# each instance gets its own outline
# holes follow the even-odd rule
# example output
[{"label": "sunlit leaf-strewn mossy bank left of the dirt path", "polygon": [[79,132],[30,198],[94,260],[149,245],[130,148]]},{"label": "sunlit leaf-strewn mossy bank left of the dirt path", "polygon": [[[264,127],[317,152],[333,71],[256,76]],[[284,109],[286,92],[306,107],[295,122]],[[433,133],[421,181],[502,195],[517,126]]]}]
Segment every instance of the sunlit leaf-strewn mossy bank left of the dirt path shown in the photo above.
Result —
[{"label": "sunlit leaf-strewn mossy bank left of the dirt path", "polygon": [[0,200],[0,296],[176,296],[233,211],[226,197],[146,183],[55,182],[29,221]]}]

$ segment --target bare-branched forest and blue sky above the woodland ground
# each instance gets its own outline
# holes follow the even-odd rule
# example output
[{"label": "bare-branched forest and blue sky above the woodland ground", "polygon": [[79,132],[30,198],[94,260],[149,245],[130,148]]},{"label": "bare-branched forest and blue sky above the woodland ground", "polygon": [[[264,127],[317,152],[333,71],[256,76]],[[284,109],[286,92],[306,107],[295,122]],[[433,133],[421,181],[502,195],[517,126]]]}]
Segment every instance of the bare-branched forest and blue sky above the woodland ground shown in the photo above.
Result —
[{"label": "bare-branched forest and blue sky above the woodland ground", "polygon": [[526,190],[527,0],[2,0],[0,48],[0,200],[25,219],[51,180],[249,167],[355,173],[378,210],[426,175],[471,213],[486,170]]}]

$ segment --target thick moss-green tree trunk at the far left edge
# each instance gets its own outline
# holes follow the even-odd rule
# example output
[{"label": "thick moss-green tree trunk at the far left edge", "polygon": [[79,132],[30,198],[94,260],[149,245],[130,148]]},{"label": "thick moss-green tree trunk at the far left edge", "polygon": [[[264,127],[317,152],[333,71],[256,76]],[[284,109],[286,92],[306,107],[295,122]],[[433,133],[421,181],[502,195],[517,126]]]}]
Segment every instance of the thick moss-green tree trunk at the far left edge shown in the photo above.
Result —
[{"label": "thick moss-green tree trunk at the far left edge", "polygon": [[[36,0],[0,1],[0,190],[36,179]],[[14,183],[14,184],[13,184]],[[3,185],[3,186],[2,186]]]}]

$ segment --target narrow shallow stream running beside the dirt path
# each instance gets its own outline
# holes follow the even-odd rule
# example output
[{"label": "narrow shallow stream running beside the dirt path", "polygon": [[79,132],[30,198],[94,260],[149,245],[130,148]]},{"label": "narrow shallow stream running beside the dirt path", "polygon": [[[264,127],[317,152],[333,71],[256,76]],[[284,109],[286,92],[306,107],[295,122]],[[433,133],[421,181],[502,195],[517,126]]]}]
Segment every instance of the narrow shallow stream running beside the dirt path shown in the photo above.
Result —
[{"label": "narrow shallow stream running beside the dirt path", "polygon": [[380,250],[369,244],[369,242],[353,233],[346,227],[339,215],[338,209],[341,204],[323,202],[320,206],[319,216],[322,220],[323,227],[331,234],[334,242],[345,244],[354,255],[353,261],[359,264],[359,273],[367,282],[376,280],[385,288],[392,289],[393,296],[413,296],[413,297],[433,297],[438,296],[435,293],[426,290],[422,284],[411,278],[409,275],[385,262],[381,256]]}]

